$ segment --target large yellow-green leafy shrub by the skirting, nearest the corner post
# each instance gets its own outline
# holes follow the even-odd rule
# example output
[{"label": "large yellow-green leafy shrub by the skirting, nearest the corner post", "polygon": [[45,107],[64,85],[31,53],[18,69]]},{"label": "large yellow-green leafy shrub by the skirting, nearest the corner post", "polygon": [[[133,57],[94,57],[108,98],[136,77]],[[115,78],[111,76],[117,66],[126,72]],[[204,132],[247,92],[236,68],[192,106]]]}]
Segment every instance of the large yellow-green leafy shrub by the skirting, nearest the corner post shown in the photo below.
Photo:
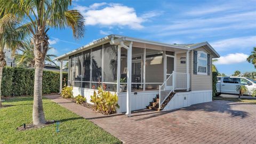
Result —
[{"label": "large yellow-green leafy shrub by the skirting, nearest the corner post", "polygon": [[101,87],[98,87],[98,93],[93,92],[90,101],[93,103],[93,109],[103,114],[116,113],[116,108],[119,108],[117,95],[103,91]]}]

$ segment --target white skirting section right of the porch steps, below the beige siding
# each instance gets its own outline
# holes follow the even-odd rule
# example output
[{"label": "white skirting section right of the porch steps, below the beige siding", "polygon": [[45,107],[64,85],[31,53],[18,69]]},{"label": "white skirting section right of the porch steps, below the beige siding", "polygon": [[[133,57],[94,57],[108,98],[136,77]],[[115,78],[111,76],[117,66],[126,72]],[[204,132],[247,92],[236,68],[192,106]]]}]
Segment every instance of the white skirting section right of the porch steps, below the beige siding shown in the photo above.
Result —
[{"label": "white skirting section right of the porch steps, below the beige siding", "polygon": [[178,92],[164,107],[163,111],[189,107],[197,103],[212,101],[212,91]]}]

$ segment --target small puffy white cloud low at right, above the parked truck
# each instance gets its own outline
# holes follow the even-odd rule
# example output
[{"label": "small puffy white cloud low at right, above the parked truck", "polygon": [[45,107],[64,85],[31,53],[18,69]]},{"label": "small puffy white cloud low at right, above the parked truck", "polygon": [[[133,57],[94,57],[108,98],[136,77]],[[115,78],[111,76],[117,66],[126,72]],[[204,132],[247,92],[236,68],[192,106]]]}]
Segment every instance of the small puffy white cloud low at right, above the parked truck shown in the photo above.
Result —
[{"label": "small puffy white cloud low at right, above the parked truck", "polygon": [[218,58],[218,61],[214,62],[215,65],[229,65],[234,63],[241,63],[246,61],[249,55],[244,53],[230,53]]}]

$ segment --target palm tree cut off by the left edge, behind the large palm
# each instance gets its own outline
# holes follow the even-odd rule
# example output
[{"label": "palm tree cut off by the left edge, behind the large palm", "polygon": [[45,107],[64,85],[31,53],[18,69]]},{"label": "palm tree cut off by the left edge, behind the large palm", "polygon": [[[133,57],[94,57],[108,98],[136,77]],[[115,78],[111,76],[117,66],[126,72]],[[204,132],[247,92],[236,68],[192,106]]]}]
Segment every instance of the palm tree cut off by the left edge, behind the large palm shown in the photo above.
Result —
[{"label": "palm tree cut off by the left edge, behind the large palm", "polygon": [[19,21],[15,15],[7,13],[0,14],[0,107],[2,107],[1,100],[1,83],[3,67],[6,65],[4,49],[11,49],[12,54],[22,44],[21,41],[28,33],[25,27],[19,27]]}]

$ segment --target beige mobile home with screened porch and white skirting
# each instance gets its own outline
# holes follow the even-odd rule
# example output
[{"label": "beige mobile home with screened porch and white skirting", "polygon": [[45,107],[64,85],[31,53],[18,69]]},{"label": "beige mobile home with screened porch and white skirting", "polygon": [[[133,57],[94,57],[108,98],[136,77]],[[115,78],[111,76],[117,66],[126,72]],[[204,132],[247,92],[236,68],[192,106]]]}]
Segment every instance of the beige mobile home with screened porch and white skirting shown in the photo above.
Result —
[{"label": "beige mobile home with screened porch and white skirting", "polygon": [[90,103],[103,85],[117,93],[119,112],[130,116],[146,106],[171,110],[212,101],[212,58],[219,57],[207,42],[165,44],[109,35],[55,60],[69,61],[68,85],[75,96]]}]

